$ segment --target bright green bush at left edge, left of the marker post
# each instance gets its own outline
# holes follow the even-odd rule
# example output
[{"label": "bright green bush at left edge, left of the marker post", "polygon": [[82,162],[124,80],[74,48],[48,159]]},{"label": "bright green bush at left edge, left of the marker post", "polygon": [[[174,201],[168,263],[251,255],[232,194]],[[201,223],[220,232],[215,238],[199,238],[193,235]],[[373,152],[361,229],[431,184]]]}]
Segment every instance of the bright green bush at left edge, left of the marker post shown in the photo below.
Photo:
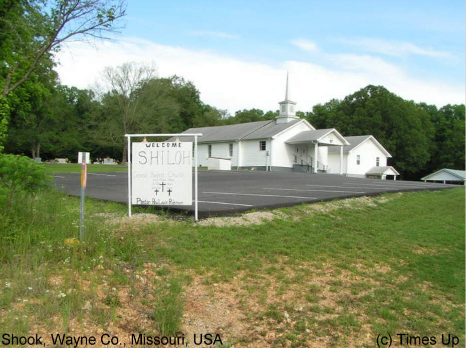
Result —
[{"label": "bright green bush at left edge, left of the marker post", "polygon": [[34,195],[46,188],[49,180],[45,168],[29,157],[0,154],[0,204],[4,212],[14,198]]}]

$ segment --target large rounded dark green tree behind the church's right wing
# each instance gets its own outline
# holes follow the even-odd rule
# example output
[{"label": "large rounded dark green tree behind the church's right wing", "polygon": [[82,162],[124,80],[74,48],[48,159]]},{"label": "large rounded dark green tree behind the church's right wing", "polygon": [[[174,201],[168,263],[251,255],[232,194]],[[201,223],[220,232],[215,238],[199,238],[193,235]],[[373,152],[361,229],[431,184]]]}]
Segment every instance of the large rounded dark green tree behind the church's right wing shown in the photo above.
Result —
[{"label": "large rounded dark green tree behind the church's right wing", "polygon": [[336,128],[345,136],[372,134],[404,178],[418,178],[431,156],[434,129],[429,113],[382,86],[369,85],[342,101],[317,105],[308,117],[315,127]]}]

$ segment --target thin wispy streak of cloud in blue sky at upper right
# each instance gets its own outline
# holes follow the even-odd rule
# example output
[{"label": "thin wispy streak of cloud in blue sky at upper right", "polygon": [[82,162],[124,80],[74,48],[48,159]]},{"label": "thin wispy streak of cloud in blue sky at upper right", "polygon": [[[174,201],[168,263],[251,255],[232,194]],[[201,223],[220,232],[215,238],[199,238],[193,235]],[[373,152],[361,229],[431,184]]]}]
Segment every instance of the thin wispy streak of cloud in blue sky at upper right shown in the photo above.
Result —
[{"label": "thin wispy streak of cloud in blue sky at upper right", "polygon": [[386,41],[382,39],[359,38],[353,40],[341,40],[341,42],[359,47],[364,51],[381,53],[388,56],[405,56],[413,54],[439,59],[454,58],[454,56],[449,52],[425,49],[404,41]]}]

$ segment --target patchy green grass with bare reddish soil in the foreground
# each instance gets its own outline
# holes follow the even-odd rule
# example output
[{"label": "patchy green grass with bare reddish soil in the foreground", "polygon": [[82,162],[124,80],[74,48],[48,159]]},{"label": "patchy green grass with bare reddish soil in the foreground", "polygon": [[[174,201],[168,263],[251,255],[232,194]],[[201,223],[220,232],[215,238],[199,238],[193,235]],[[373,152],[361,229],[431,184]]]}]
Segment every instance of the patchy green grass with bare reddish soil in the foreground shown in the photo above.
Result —
[{"label": "patchy green grass with bare reddish soil in the foreground", "polygon": [[3,331],[111,332],[127,346],[179,330],[235,347],[373,347],[386,332],[464,343],[463,188],[196,225],[125,210],[88,199],[77,244],[79,199],[16,202],[0,218]]}]

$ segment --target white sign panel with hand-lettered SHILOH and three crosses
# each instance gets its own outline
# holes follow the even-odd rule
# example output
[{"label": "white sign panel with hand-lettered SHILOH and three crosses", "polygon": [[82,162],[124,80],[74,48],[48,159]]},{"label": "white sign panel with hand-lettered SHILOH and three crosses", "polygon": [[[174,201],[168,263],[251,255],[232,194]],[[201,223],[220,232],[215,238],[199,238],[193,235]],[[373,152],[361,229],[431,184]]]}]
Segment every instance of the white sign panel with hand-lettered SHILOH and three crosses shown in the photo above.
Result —
[{"label": "white sign panel with hand-lettered SHILOH and three crosses", "polygon": [[133,142],[131,152],[132,204],[192,204],[192,142]]}]

